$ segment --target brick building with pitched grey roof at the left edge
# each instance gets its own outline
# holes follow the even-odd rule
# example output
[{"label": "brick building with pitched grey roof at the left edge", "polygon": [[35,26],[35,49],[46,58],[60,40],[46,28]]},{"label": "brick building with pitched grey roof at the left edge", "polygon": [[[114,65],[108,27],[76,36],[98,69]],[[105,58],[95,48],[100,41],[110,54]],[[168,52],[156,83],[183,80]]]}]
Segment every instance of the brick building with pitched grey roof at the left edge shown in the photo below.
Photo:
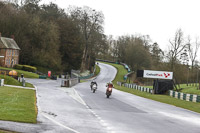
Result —
[{"label": "brick building with pitched grey roof at the left edge", "polygon": [[0,66],[13,67],[18,64],[19,50],[13,38],[1,37],[0,33]]}]

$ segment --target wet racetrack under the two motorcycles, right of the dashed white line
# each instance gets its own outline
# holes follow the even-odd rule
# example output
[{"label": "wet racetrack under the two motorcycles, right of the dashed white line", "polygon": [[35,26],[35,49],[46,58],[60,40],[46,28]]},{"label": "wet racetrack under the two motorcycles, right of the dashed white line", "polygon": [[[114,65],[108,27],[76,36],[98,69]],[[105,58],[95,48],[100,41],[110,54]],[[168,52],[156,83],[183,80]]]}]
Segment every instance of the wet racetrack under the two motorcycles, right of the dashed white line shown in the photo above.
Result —
[{"label": "wet racetrack under the two motorcycles, right of the dashed white line", "polygon": [[200,133],[199,113],[115,89],[107,99],[105,85],[114,78],[116,70],[105,64],[99,66],[101,73],[96,78],[99,85],[95,94],[90,91],[87,82],[75,88],[108,132]]}]

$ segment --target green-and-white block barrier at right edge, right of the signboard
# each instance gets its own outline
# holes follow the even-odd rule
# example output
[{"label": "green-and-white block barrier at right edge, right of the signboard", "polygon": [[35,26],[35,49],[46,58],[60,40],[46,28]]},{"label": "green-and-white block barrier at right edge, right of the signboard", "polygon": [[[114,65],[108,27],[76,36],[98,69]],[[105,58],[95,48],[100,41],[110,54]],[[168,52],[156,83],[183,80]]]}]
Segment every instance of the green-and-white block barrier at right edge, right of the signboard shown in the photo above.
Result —
[{"label": "green-and-white block barrier at right edge, right of the signboard", "polygon": [[185,101],[200,102],[200,95],[186,94],[186,93],[177,92],[177,91],[173,91],[173,90],[169,91],[169,95],[171,97],[185,100]]}]

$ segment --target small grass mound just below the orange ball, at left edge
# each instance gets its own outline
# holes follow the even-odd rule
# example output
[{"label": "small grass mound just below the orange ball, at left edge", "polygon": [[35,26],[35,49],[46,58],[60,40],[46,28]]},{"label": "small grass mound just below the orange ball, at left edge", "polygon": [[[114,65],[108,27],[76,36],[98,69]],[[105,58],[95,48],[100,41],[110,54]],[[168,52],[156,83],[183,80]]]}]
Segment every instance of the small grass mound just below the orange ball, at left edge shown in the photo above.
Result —
[{"label": "small grass mound just below the orange ball, at left edge", "polygon": [[[16,86],[22,86],[22,83],[20,83],[18,80],[14,79],[13,77],[10,76],[5,76],[5,75],[0,75],[1,79],[4,79],[4,84],[7,85],[16,85]],[[28,82],[25,83],[26,87],[32,87],[34,88],[34,86]]]}]

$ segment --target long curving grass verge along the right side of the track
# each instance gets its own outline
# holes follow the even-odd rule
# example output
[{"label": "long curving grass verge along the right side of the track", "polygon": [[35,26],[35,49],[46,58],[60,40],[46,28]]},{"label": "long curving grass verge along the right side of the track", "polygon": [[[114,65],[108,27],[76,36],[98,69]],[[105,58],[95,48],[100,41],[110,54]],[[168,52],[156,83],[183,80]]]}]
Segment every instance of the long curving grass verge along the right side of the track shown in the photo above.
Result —
[{"label": "long curving grass verge along the right side of the track", "polygon": [[[102,62],[102,63],[104,63],[104,62]],[[135,89],[126,88],[123,86],[118,86],[116,82],[117,81],[123,82],[123,76],[127,73],[126,69],[122,65],[118,65],[118,64],[112,64],[112,63],[107,63],[107,62],[105,64],[110,64],[110,65],[116,67],[118,70],[117,75],[116,75],[115,79],[113,80],[113,84],[116,89],[127,92],[127,93],[131,93],[131,94],[134,94],[137,96],[152,99],[152,100],[159,101],[162,103],[171,104],[171,105],[174,105],[177,107],[185,108],[185,109],[200,113],[200,103],[183,101],[180,99],[170,97],[169,95],[158,95],[158,94],[153,95],[153,94],[150,94],[147,92],[142,92],[142,91],[138,91]]]}]

